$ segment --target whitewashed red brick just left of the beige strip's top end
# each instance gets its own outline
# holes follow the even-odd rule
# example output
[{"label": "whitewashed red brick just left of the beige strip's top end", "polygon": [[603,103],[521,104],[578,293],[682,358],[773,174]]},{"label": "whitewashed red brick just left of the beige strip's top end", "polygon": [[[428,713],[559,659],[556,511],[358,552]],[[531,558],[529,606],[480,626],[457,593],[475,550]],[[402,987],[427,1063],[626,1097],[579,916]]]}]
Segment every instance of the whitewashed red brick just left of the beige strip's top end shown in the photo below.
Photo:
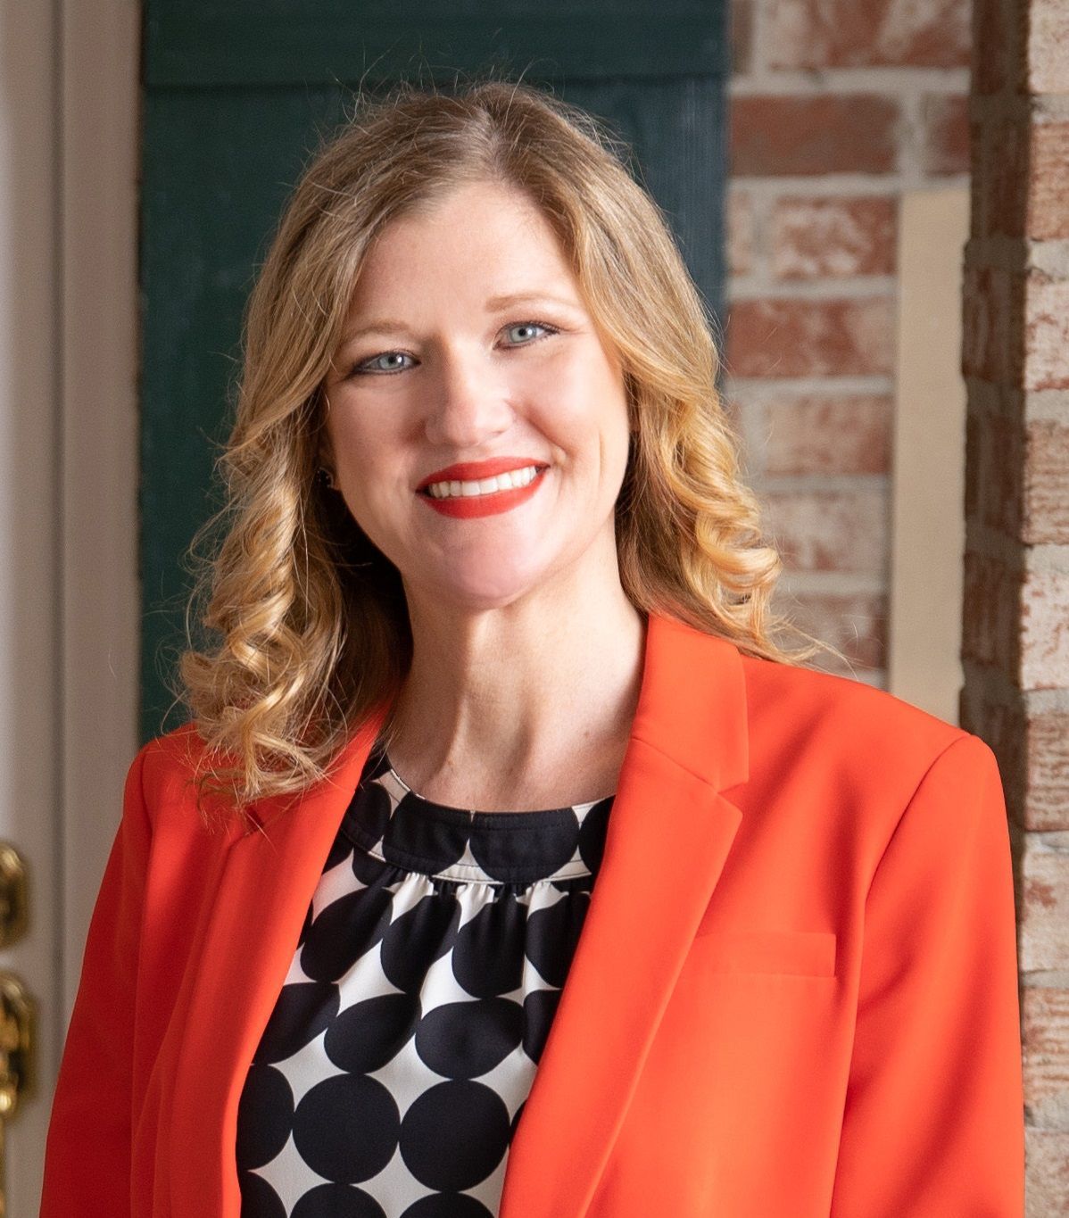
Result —
[{"label": "whitewashed red brick just left of the beige strip's top end", "polygon": [[891,199],[780,199],[773,214],[773,268],[780,279],[895,273]]}]

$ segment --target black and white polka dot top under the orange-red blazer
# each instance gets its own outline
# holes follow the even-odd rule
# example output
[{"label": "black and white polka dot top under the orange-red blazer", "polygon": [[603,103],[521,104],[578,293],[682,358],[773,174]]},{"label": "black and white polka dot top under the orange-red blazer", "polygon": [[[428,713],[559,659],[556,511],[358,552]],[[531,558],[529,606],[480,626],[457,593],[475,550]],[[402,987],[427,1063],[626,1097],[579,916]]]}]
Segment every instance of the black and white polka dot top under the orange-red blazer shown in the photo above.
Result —
[{"label": "black and white polka dot top under the orange-red blazer", "polygon": [[611,805],[449,808],[375,744],[241,1091],[241,1218],[497,1214]]}]

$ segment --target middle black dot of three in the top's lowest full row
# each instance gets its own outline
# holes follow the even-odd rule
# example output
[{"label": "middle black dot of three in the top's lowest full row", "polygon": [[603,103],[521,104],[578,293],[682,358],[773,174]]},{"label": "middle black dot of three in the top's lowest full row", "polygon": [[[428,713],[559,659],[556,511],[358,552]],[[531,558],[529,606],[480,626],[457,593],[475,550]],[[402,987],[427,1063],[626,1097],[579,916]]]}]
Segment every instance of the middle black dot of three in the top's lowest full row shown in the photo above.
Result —
[{"label": "middle black dot of three in the top's lowest full row", "polygon": [[325,1180],[358,1184],[377,1175],[397,1150],[397,1104],[376,1079],[335,1074],[317,1083],[293,1113],[293,1142]]}]

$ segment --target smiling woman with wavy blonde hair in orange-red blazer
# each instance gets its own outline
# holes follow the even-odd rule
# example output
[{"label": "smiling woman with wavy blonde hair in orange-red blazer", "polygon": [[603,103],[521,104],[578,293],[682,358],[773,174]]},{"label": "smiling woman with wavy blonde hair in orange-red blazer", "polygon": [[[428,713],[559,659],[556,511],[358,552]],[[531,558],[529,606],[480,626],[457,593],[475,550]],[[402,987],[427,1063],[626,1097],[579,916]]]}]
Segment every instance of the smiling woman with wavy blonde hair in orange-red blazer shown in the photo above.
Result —
[{"label": "smiling woman with wavy blonde hair in orange-red blazer", "polygon": [[44,1218],[1020,1214],[994,756],[776,641],[700,300],[597,124],[365,105],[245,339]]}]

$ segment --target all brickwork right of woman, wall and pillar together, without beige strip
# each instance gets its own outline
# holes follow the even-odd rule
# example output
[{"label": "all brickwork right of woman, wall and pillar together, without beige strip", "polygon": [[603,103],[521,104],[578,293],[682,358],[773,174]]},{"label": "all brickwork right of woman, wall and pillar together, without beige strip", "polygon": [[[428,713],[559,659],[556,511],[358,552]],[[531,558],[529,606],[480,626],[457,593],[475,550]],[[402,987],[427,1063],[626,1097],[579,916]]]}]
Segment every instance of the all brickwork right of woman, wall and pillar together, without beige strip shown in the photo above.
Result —
[{"label": "all brickwork right of woman, wall and pillar together, without beige strip", "polygon": [[1026,1206],[1053,1218],[1069,1213],[1069,4],[735,0],[733,38],[728,402],[785,607],[874,683],[897,196],[970,184],[961,715],[1009,805]]}]

